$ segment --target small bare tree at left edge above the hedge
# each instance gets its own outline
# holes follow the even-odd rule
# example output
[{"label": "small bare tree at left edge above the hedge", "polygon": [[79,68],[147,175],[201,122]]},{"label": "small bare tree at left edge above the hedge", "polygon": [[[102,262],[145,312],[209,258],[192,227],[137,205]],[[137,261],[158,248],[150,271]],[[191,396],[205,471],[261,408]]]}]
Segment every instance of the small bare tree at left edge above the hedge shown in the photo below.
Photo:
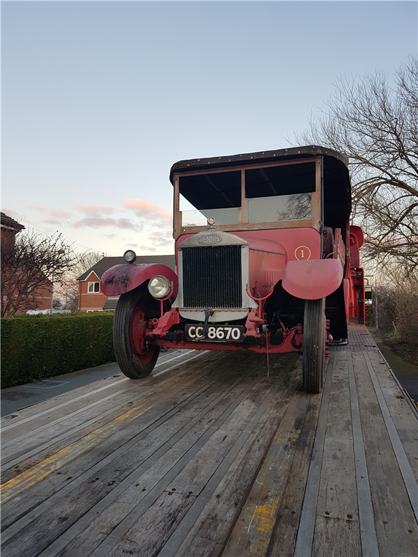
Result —
[{"label": "small bare tree at left edge above the hedge", "polygon": [[50,292],[75,259],[72,246],[61,234],[19,233],[0,244],[0,317],[35,309],[40,292]]}]

